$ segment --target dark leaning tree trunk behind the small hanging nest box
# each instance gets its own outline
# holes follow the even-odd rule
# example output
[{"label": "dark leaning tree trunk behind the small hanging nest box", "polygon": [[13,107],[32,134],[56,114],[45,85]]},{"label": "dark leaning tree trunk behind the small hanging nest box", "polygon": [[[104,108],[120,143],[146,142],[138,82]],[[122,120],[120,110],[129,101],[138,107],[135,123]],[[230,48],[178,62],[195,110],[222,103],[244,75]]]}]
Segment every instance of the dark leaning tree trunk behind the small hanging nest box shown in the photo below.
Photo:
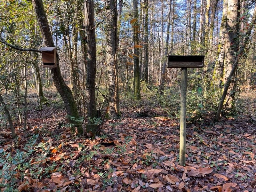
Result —
[{"label": "dark leaning tree trunk behind the small hanging nest box", "polygon": [[[50,27],[48,24],[48,20],[44,11],[44,5],[42,0],[32,0],[32,3],[36,12],[36,18],[40,27],[44,45],[48,47],[55,47],[53,43]],[[77,121],[80,116],[76,108],[76,102],[74,100],[71,90],[65,84],[61,76],[58,59],[57,59],[57,67],[51,68],[51,72],[52,72],[53,82],[66,106],[67,114],[69,116],[69,121],[75,126],[77,126],[78,132],[80,134],[83,134],[82,126],[80,126],[81,124],[78,123]],[[75,131],[74,127],[72,130],[73,132]]]}]

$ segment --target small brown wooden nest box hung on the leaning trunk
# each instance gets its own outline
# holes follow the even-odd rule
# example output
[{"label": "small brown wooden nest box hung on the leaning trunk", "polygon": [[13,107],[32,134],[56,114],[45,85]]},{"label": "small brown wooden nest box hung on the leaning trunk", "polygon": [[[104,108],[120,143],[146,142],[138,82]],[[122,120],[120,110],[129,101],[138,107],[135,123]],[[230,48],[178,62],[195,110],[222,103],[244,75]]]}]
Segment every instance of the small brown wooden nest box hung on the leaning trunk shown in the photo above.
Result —
[{"label": "small brown wooden nest box hung on the leaning trunk", "polygon": [[39,51],[42,52],[43,67],[57,67],[56,47],[42,47]]}]

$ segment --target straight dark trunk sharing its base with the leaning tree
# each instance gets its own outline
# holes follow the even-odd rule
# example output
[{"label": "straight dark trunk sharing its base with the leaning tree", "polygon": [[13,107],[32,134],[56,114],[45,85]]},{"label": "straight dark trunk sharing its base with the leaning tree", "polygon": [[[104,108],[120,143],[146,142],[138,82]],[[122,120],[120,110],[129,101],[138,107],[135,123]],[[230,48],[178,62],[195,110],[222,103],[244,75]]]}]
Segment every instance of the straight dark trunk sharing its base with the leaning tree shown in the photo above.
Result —
[{"label": "straight dark trunk sharing its base with the leaning tree", "polygon": [[94,1],[85,0],[85,32],[87,34],[87,66],[86,66],[86,96],[88,125],[87,133],[94,136],[97,132],[95,118],[97,118],[96,97],[95,97],[95,77],[96,77],[96,40],[94,27]]}]

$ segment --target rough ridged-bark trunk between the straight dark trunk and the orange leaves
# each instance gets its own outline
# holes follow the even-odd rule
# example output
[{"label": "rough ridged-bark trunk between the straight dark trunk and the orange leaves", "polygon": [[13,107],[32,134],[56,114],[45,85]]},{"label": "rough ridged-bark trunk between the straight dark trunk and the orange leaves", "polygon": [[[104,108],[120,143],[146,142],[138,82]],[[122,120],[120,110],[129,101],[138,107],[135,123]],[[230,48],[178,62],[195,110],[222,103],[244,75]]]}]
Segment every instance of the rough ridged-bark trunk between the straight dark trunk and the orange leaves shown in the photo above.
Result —
[{"label": "rough ridged-bark trunk between the straight dark trunk and the orange leaves", "polygon": [[116,0],[107,0],[106,7],[108,7],[107,14],[107,64],[108,64],[108,91],[109,91],[109,110],[110,118],[117,118],[119,116],[119,94],[118,94],[118,80],[117,80],[117,62],[116,62],[116,48],[117,48],[117,6]]}]

